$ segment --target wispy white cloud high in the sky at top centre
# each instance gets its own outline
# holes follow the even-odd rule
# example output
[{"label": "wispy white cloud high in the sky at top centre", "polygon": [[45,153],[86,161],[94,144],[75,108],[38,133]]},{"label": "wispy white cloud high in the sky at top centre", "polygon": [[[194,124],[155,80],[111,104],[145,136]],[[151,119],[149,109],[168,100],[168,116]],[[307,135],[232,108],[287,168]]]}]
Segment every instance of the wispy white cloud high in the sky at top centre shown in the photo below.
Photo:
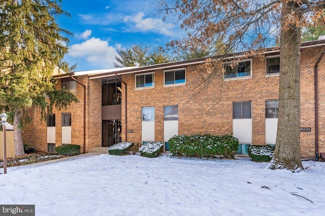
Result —
[{"label": "wispy white cloud high in the sky at top centre", "polygon": [[135,23],[136,29],[140,31],[154,31],[157,33],[165,35],[173,35],[172,29],[174,28],[173,24],[165,23],[161,19],[157,18],[144,18],[144,13],[139,12],[135,16],[125,16],[124,22],[133,22]]}]

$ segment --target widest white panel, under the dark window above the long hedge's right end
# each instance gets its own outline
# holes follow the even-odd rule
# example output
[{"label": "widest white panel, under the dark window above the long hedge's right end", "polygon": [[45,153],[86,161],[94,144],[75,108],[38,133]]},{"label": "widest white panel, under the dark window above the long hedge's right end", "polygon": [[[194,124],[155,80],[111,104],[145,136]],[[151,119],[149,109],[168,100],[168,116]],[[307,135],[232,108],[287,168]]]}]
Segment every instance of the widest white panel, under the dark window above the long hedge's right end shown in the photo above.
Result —
[{"label": "widest white panel, under the dark window above the long hedge's right end", "polygon": [[252,119],[233,119],[233,133],[239,143],[252,143]]}]

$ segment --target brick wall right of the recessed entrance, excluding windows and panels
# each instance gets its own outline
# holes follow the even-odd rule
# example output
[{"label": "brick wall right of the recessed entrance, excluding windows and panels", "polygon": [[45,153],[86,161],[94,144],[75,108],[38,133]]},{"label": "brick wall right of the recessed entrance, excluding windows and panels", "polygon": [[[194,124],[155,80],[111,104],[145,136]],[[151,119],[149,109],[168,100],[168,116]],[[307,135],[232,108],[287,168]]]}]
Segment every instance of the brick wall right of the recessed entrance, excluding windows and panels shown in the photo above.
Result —
[{"label": "brick wall right of the recessed entrance, excluding windows and panels", "polygon": [[[314,65],[320,51],[321,48],[306,48],[301,52],[301,127],[311,127],[311,132],[301,132],[303,158],[315,157]],[[325,129],[321,127],[325,125],[323,62],[325,60],[318,66],[320,151],[325,150]],[[186,85],[175,87],[163,87],[164,72],[162,69],[155,70],[154,88],[142,90],[135,90],[134,74],[123,75],[122,80],[127,83],[127,129],[134,131],[127,134],[128,141],[141,143],[143,106],[155,107],[155,140],[163,141],[165,105],[178,105],[179,134],[225,134],[232,133],[233,102],[252,101],[252,144],[265,145],[265,101],[278,99],[279,88],[278,76],[266,76],[265,60],[252,59],[252,79],[224,82],[215,79],[207,90],[198,93],[196,87],[202,76],[200,70],[199,65],[186,66]],[[124,112],[123,107],[122,116]],[[124,124],[122,132],[125,132]]]}]

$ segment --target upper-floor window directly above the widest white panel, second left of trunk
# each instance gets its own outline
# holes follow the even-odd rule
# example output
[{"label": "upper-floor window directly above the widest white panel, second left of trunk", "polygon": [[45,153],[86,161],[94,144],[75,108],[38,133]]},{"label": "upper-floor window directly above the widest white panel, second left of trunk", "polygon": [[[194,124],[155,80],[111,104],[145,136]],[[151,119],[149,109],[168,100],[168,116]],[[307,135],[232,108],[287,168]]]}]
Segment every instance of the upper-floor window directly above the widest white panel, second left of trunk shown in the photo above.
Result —
[{"label": "upper-floor window directly above the widest white panel, second left of trunk", "polygon": [[224,65],[224,78],[246,77],[250,76],[251,60],[226,63]]}]

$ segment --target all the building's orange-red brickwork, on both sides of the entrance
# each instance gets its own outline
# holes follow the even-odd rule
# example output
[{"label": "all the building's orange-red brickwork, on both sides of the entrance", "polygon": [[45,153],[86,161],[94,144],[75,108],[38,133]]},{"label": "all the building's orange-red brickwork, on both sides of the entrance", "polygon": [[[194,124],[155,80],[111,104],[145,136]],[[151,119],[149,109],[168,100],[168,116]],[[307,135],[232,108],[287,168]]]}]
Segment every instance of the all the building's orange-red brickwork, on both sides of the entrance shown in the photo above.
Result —
[{"label": "all the building's orange-red brickwork, on both sides of the entrance", "polygon": [[[301,127],[311,127],[311,132],[301,132],[303,158],[315,157],[315,106],[314,65],[325,47],[305,48],[301,51]],[[175,69],[175,68],[173,68]],[[179,134],[232,133],[232,107],[235,101],[252,101],[252,144],[265,145],[265,101],[278,99],[279,77],[266,77],[266,62],[252,59],[252,78],[223,81],[215,78],[209,88],[198,92],[202,68],[186,66],[186,85],[164,87],[164,72],[155,70],[152,89],[135,90],[135,75],[122,75],[127,84],[127,141],[141,143],[141,108],[155,107],[155,140],[164,139],[164,106],[178,105]],[[89,80],[87,76],[76,79],[86,85],[86,149],[102,146],[102,85],[101,79]],[[104,78],[103,78],[104,79]],[[61,88],[60,80],[57,88]],[[122,84],[122,140],[125,140],[125,85]],[[83,87],[77,84],[79,103],[56,114],[56,146],[61,145],[61,113],[72,113],[72,144],[81,146],[83,152]],[[325,57],[318,65],[318,115],[319,152],[325,152]],[[46,123],[40,112],[34,110],[30,124],[25,125],[23,140],[37,150],[46,151]]]}]

